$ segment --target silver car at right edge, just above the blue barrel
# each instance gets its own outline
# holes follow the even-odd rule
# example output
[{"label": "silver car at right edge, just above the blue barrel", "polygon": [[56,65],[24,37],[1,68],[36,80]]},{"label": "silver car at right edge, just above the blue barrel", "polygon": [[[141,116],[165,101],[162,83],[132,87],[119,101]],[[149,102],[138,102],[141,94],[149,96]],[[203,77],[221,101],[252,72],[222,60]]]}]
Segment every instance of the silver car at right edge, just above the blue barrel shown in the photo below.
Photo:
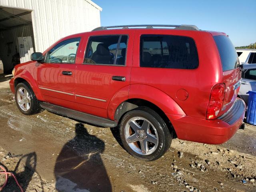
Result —
[{"label": "silver car at right edge, just above the blue barrel", "polygon": [[248,105],[248,91],[256,91],[256,64],[243,64],[242,84],[238,92],[238,97],[243,99],[246,105]]}]

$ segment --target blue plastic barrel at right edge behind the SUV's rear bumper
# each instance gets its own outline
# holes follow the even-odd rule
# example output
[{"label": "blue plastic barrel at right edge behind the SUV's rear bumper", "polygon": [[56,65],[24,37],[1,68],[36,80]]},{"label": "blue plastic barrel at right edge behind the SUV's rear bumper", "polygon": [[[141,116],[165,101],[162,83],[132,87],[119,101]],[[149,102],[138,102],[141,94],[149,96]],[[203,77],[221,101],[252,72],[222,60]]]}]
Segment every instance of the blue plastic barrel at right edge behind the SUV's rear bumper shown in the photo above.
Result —
[{"label": "blue plastic barrel at right edge behind the SUV's rear bumper", "polygon": [[246,122],[252,125],[256,125],[256,91],[249,91]]}]

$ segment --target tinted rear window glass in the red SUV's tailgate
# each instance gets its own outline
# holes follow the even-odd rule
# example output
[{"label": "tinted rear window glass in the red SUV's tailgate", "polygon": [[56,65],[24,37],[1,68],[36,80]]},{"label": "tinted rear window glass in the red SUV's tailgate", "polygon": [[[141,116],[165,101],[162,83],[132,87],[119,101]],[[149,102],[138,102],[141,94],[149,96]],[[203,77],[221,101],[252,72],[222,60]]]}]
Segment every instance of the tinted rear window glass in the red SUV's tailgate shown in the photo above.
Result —
[{"label": "tinted rear window glass in the red SUV's tailgate", "polygon": [[214,36],[213,38],[220,53],[223,71],[239,67],[238,55],[230,39],[224,35]]}]

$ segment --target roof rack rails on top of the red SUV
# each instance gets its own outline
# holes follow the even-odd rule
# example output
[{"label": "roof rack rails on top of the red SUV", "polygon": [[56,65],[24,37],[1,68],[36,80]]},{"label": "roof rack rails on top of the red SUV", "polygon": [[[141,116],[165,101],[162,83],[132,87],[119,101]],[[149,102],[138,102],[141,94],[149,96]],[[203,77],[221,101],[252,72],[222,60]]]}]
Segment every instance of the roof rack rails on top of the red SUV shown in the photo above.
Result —
[{"label": "roof rack rails on top of the red SUV", "polygon": [[129,27],[146,27],[146,28],[153,28],[153,27],[175,27],[173,29],[181,29],[181,30],[199,30],[195,25],[117,25],[117,26],[106,26],[106,27],[97,27],[92,31],[98,30],[107,30],[109,28],[122,28],[128,29]]}]

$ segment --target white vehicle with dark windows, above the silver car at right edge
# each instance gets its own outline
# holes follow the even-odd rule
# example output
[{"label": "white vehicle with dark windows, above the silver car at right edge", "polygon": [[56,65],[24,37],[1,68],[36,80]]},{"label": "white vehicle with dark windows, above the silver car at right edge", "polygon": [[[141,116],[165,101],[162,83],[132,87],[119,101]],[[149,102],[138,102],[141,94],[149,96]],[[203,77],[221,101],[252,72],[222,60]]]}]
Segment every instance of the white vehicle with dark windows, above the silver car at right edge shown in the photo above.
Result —
[{"label": "white vehicle with dark windows, above the silver car at right edge", "polygon": [[236,49],[241,64],[256,64],[256,49]]}]

